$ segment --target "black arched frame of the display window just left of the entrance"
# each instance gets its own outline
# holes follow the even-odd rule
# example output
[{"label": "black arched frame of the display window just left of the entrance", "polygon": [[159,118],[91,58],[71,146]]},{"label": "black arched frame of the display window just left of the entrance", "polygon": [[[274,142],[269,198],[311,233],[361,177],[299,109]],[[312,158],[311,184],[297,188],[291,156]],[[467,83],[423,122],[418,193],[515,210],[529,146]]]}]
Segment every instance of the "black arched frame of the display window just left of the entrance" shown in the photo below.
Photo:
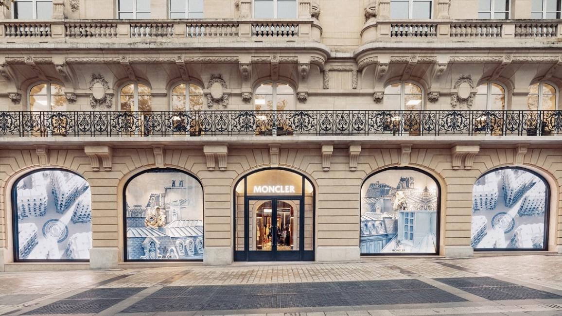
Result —
[{"label": "black arched frame of the display window just left of the entrance", "polygon": [[[203,183],[201,182],[201,180],[199,178],[197,178],[194,174],[189,173],[188,171],[182,170],[182,169],[177,169],[177,168],[151,168],[151,169],[147,169],[147,170],[142,170],[139,171],[138,173],[134,174],[132,177],[130,177],[126,182],[125,185],[123,186],[123,191],[121,192],[122,196],[123,196],[123,209],[121,210],[123,214],[123,241],[124,241],[124,253],[123,253],[123,258],[124,261],[128,261],[128,262],[166,262],[166,261],[180,261],[180,262],[185,262],[185,261],[203,261],[203,259],[128,259],[128,247],[127,247],[127,188],[129,186],[129,184],[135,179],[138,178],[140,175],[146,174],[146,173],[150,173],[150,172],[166,172],[166,171],[173,171],[173,172],[178,172],[178,173],[183,173],[185,174],[187,177],[191,177],[194,180],[196,180],[196,182],[199,184],[199,186],[201,187],[201,205],[202,205],[202,222],[203,222],[203,238],[205,238],[205,200],[203,199],[203,196],[205,196],[205,189],[203,188]],[[189,240],[191,241],[191,239]],[[197,243],[199,240],[196,240],[195,242],[193,242],[193,246],[196,248]],[[184,246],[187,246],[184,244]],[[205,245],[203,244],[203,251],[205,249]]]}]

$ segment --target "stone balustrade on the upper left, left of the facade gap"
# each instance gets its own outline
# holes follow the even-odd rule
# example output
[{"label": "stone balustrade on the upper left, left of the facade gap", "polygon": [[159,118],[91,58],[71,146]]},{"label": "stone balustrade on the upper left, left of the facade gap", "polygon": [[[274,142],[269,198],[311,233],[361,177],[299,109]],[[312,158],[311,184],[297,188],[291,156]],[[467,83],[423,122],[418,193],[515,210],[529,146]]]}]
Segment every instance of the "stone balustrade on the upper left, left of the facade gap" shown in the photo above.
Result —
[{"label": "stone balustrade on the upper left, left of the facade gap", "polygon": [[0,38],[79,40],[83,38],[291,38],[320,41],[313,19],[301,20],[1,20]]}]

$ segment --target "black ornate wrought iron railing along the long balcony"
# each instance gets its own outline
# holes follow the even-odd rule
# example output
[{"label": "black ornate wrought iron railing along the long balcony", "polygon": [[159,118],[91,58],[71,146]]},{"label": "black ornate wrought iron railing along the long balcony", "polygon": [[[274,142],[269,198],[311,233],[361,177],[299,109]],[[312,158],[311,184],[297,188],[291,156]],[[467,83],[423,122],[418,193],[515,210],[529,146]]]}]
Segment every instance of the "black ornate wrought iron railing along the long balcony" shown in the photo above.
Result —
[{"label": "black ornate wrought iron railing along the long balcony", "polygon": [[49,111],[0,112],[0,137],[550,136],[562,111]]}]

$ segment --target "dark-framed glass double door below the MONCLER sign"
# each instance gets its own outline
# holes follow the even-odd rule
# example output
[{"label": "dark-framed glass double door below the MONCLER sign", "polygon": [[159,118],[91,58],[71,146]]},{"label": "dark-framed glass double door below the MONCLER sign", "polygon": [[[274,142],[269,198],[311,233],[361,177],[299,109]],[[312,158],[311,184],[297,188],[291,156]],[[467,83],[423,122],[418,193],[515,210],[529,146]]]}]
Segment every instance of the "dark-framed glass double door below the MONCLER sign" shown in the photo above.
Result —
[{"label": "dark-framed glass double door below the MONCLER sign", "polygon": [[250,260],[300,260],[301,198],[248,198]]}]

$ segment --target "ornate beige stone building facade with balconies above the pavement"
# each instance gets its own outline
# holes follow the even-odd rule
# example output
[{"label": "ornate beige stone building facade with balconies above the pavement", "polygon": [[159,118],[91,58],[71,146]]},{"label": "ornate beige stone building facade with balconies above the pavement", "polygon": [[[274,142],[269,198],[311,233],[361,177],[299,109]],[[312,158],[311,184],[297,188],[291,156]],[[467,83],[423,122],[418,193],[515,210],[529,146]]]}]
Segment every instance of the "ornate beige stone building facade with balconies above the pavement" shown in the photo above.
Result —
[{"label": "ornate beige stone building facade with balconies above the pavement", "polygon": [[[436,184],[434,254],[472,256],[498,229],[517,245],[495,250],[562,251],[560,3],[495,1],[186,0],[176,7],[138,0],[128,7],[53,0],[0,8],[0,270],[191,262],[126,260],[125,190],[153,169],[179,170],[200,183],[204,264],[252,258],[237,238],[280,241],[247,229],[259,216],[235,215],[251,205],[249,191],[237,195],[240,181],[268,169],[312,185],[314,193],[303,188],[302,207],[291,206],[313,205],[312,222],[302,213],[302,225],[288,229],[300,234],[289,245],[296,250],[301,242],[300,259],[368,255],[361,254],[361,215],[384,210],[377,200],[365,209],[362,187],[396,168]],[[18,259],[13,192],[26,174],[53,168],[89,184],[89,262]],[[516,215],[494,216],[485,234],[479,218],[474,243],[473,188],[498,168],[542,179],[544,221],[518,229],[503,225],[513,219],[518,226]],[[525,192],[505,207],[518,209]],[[262,212],[279,216],[281,209]]]}]

